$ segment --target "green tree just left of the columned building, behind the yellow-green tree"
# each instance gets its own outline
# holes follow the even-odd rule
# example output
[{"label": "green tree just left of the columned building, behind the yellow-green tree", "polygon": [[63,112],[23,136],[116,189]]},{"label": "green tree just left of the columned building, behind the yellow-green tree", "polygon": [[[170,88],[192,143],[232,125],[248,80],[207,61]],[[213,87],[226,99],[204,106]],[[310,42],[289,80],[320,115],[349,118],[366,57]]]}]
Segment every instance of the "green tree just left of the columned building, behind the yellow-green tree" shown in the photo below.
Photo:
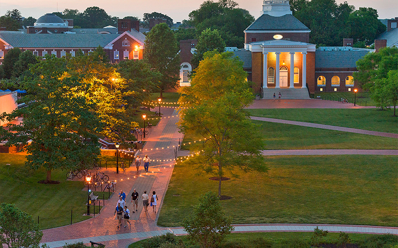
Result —
[{"label": "green tree just left of the columned building, behind the yellow-green tree", "polygon": [[218,33],[218,30],[211,31],[205,29],[199,36],[196,46],[196,54],[192,58],[192,65],[198,67],[199,62],[203,59],[203,54],[215,50],[217,53],[225,51],[225,42]]}]

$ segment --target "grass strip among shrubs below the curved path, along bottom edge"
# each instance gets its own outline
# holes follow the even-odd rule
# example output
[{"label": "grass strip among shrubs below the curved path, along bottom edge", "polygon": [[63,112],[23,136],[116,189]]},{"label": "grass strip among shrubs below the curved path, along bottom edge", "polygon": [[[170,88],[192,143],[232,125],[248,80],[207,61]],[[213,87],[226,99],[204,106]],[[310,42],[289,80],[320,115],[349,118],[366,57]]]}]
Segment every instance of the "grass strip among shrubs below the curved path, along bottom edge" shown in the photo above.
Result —
[{"label": "grass strip among shrubs below the curved path, along bottom edge", "polygon": [[[296,232],[272,232],[272,233],[233,233],[225,237],[225,244],[222,248],[265,248],[271,244],[273,248],[309,248],[312,233],[296,233]],[[337,242],[338,233],[328,233],[326,237],[322,237],[321,241],[326,244],[335,244]],[[371,234],[348,234],[352,244],[359,244],[361,248],[373,248],[373,240],[381,247],[382,241],[387,245],[394,245],[398,238],[392,235],[371,235]],[[186,247],[191,247],[187,236],[176,237],[177,241],[182,241]],[[145,241],[138,241],[128,246],[128,248],[142,248]],[[301,244],[301,246],[298,246]],[[194,246],[195,247],[195,246]],[[388,246],[390,247],[390,246]],[[196,247],[195,247],[196,248]]]}]

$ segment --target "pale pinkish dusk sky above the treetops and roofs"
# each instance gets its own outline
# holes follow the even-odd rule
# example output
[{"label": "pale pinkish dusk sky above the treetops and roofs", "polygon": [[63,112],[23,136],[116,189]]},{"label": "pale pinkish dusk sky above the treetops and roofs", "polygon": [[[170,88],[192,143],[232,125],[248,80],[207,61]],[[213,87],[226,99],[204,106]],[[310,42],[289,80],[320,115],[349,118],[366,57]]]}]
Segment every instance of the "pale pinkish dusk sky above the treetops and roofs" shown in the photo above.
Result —
[{"label": "pale pinkish dusk sky above the treetops and roofs", "polygon": [[[235,0],[239,7],[249,10],[255,17],[260,16],[263,0]],[[336,0],[338,3],[344,0]],[[98,6],[109,15],[132,15],[142,19],[143,13],[161,12],[170,16],[174,22],[188,19],[188,14],[198,9],[203,0],[0,0],[0,15],[8,9],[18,9],[22,16],[39,18],[45,13],[62,11],[65,8],[79,9],[83,12],[87,7]],[[398,16],[397,0],[347,0],[350,5],[372,7],[378,10],[379,18]],[[57,6],[58,5],[58,6]]]}]

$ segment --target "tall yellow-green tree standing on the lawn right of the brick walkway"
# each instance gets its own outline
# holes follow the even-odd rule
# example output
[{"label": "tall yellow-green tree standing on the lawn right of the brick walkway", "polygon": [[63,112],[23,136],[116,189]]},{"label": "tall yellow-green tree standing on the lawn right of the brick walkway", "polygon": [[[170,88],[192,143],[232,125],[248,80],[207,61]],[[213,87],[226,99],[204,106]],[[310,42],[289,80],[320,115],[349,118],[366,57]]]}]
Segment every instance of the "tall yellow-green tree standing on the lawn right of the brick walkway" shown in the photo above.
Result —
[{"label": "tall yellow-green tree standing on the lawn right of the brick walkway", "polygon": [[[212,52],[214,53],[214,52]],[[182,132],[202,137],[204,145],[192,148],[199,172],[218,178],[221,196],[222,177],[239,177],[240,171],[265,172],[264,139],[244,108],[252,103],[247,73],[232,53],[204,55],[192,78],[191,87],[181,89],[179,99]],[[191,158],[190,158],[191,160]]]}]

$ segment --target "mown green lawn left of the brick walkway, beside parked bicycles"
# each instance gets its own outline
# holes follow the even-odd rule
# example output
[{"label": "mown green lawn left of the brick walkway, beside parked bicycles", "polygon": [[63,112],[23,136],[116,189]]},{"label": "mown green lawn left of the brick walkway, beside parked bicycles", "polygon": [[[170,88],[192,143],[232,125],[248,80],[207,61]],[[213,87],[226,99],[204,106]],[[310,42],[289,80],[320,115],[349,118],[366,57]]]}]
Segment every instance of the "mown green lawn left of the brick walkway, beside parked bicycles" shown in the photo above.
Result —
[{"label": "mown green lawn left of the brick walkway, beside parked bicycles", "polygon": [[25,156],[0,153],[0,161],[0,202],[15,203],[34,220],[39,216],[41,229],[70,224],[71,210],[74,223],[89,218],[83,216],[87,211],[87,189],[81,181],[67,181],[66,171],[52,172],[52,180],[60,184],[43,185],[37,182],[46,178],[45,170],[27,169]]}]

